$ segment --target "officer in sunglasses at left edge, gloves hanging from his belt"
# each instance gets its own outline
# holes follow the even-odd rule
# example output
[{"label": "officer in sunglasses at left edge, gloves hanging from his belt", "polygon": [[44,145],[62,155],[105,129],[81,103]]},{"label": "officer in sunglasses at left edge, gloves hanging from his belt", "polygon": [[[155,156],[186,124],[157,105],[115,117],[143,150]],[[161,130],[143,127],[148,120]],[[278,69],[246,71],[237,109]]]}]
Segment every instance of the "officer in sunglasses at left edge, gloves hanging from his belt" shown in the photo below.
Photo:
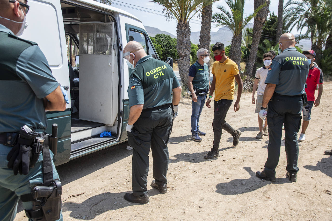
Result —
[{"label": "officer in sunglasses at left edge, gloves hanging from his belt", "polygon": [[[47,127],[45,110],[66,108],[66,93],[52,76],[41,49],[36,43],[18,37],[27,27],[28,11],[25,0],[0,0],[0,220],[6,221],[14,220],[20,196],[29,198],[32,187],[45,181],[43,154],[32,154],[28,144],[32,140],[23,137],[23,133],[18,136],[21,128],[33,136],[31,130],[44,131]],[[51,151],[45,155],[53,157]],[[36,163],[30,168],[33,156]],[[59,179],[53,160],[48,163],[47,175]],[[42,216],[41,210],[32,210],[32,201],[23,201],[30,220]],[[50,215],[55,212],[57,219],[63,220],[60,209]]]}]

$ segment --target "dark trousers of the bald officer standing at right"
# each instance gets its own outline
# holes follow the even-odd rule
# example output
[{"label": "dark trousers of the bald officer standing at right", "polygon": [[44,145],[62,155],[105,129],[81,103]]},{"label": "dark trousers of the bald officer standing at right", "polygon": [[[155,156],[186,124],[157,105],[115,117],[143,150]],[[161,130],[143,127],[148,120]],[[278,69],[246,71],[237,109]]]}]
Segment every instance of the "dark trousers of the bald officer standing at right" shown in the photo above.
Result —
[{"label": "dark trousers of the bald officer standing at right", "polygon": [[268,176],[276,176],[276,167],[279,162],[282,128],[285,126],[285,151],[287,158],[286,170],[297,173],[298,143],[297,133],[301,126],[302,97],[283,96],[274,93],[269,101],[267,114],[269,145],[268,159],[265,163],[265,173]]}]

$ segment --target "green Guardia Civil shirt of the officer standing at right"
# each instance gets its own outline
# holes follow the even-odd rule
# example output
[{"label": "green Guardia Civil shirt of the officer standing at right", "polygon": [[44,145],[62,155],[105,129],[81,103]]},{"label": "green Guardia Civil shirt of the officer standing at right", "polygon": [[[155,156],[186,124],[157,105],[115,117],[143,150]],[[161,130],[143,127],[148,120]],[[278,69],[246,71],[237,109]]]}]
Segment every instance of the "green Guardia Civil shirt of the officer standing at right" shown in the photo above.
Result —
[{"label": "green Guardia Civil shirt of the officer standing at right", "polygon": [[296,48],[287,48],[272,60],[265,83],[276,84],[275,92],[294,96],[304,93],[309,73],[307,58]]}]

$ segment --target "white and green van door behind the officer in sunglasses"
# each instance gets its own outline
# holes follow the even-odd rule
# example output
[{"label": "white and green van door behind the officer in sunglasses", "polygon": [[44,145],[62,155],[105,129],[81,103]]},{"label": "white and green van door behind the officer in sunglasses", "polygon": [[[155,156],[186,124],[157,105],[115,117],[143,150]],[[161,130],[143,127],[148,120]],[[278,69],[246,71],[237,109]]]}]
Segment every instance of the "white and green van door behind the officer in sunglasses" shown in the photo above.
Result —
[{"label": "white and green van door behind the officer in sunglasses", "polygon": [[[29,5],[30,11],[27,14],[29,26],[20,37],[38,43],[52,70],[52,75],[62,86],[69,88],[68,58],[67,51],[63,50],[66,41],[60,1],[29,0]],[[70,100],[69,91],[68,98]],[[57,165],[67,162],[70,154],[70,104],[67,104],[65,111],[48,111],[47,119],[46,132],[49,134],[52,133],[52,124],[58,124],[58,153],[63,152],[58,154],[62,159],[54,156],[54,163]]]}]

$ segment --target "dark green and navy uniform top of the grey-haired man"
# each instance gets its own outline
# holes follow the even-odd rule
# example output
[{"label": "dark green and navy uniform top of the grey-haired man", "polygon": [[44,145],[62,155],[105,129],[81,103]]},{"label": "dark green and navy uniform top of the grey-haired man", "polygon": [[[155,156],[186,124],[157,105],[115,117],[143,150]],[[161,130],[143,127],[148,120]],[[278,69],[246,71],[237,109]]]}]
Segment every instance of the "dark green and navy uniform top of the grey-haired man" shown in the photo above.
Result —
[{"label": "dark green and navy uniform top of the grey-haired man", "polygon": [[201,91],[208,92],[208,67],[204,63],[201,65],[196,61],[192,66],[190,66],[188,76],[193,77],[193,87],[200,89]]}]

